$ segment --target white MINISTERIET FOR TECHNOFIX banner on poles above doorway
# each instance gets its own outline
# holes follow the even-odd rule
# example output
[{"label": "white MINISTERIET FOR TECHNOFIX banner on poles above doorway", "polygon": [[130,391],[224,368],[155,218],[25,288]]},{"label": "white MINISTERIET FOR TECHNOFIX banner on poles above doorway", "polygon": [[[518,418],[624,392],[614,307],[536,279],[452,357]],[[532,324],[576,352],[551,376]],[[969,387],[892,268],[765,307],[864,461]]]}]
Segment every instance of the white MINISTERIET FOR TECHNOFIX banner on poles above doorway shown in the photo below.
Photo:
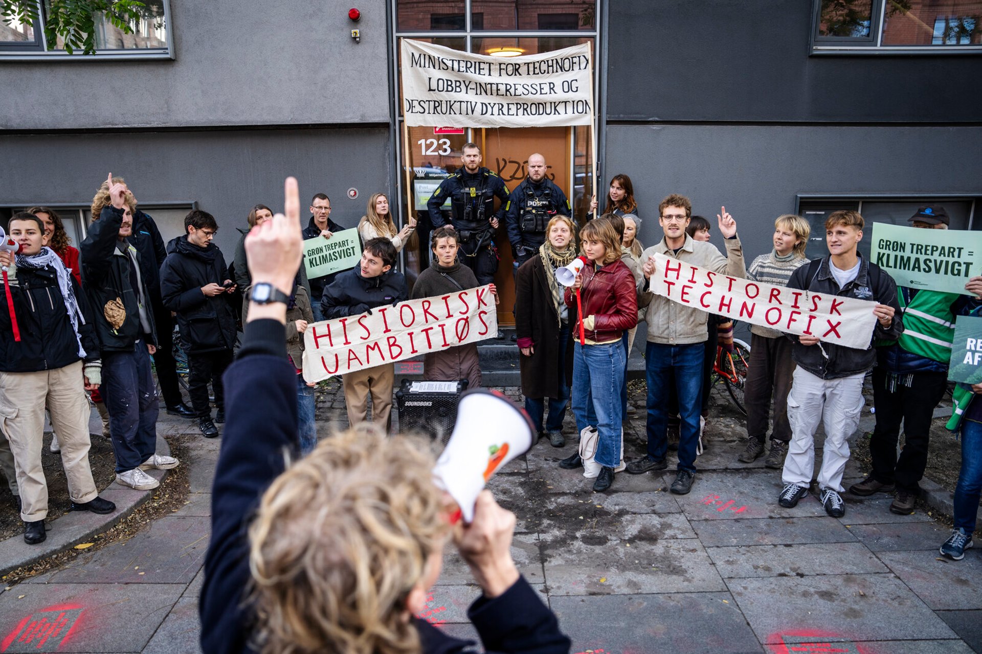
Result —
[{"label": "white MINISTERIET FOR TECHNOFIX banner on poles above doorway", "polygon": [[407,126],[547,127],[591,125],[590,45],[519,57],[492,57],[402,40]]}]

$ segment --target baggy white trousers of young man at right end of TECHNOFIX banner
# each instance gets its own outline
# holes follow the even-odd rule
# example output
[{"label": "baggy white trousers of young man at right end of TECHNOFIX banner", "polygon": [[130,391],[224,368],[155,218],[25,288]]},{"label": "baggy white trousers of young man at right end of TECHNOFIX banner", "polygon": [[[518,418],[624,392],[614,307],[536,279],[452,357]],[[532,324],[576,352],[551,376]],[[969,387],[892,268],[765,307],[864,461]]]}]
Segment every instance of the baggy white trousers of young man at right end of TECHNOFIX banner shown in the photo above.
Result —
[{"label": "baggy white trousers of young man at right end of TECHNOFIX banner", "polygon": [[849,460],[846,438],[859,426],[863,374],[839,379],[815,377],[798,366],[788,394],[791,443],[781,478],[785,483],[807,486],[815,470],[815,429],[825,429],[822,469],[818,485],[843,492],[843,473]]}]

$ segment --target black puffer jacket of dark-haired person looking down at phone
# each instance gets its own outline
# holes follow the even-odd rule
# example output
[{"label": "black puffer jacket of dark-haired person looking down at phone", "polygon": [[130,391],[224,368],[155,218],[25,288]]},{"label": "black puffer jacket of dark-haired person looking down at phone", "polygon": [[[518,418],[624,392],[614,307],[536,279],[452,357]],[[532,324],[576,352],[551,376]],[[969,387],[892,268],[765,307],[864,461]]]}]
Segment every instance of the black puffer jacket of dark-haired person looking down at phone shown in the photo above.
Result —
[{"label": "black puffer jacket of dark-haired person looking down at phone", "polygon": [[188,234],[167,244],[167,259],[160,267],[164,306],[178,315],[181,338],[189,352],[231,350],[236,344],[236,313],[228,293],[206,297],[201,286],[221,285],[229,278],[222,251],[214,243],[198,247]]}]

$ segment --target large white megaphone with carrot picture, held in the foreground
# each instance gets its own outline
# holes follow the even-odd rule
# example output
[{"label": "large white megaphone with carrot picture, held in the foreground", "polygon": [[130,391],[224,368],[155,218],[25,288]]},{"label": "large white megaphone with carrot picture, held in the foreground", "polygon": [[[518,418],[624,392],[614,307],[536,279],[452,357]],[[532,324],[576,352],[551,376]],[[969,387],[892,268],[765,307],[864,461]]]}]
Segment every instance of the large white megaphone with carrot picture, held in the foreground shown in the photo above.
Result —
[{"label": "large white megaphone with carrot picture, held in the foreground", "polygon": [[527,452],[534,437],[531,421],[504,395],[484,388],[461,395],[454,433],[433,477],[457,502],[464,522],[473,521],[474,503],[487,480]]}]

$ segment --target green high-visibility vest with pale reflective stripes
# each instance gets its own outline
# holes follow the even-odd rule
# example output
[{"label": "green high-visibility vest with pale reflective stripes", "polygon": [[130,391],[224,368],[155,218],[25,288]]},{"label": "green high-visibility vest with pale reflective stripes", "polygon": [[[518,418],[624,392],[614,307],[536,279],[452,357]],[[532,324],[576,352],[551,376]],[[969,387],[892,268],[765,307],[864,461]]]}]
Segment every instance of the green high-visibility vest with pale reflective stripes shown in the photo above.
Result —
[{"label": "green high-visibility vest with pale reflective stripes", "polygon": [[919,290],[909,304],[904,301],[900,288],[897,295],[903,320],[903,331],[897,339],[900,347],[926,359],[948,364],[952,359],[952,342],[955,339],[952,303],[958,299],[958,294]]}]

